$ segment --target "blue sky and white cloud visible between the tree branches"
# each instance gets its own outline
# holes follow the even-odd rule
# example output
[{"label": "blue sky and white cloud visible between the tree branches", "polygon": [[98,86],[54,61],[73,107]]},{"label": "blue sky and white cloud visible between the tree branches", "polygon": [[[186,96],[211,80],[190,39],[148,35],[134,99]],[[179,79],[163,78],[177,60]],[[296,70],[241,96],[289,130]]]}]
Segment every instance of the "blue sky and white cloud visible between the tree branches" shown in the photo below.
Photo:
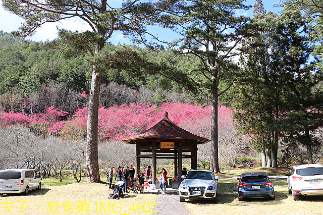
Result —
[{"label": "blue sky and white cloud visible between the tree branches", "polygon": [[[108,2],[123,2],[122,0],[108,0]],[[2,1],[0,0],[0,30],[3,30],[4,32],[12,32],[13,30],[18,30],[18,28],[21,26],[21,23],[23,22],[23,19],[18,17],[17,15],[14,15],[2,7]],[[272,0],[263,0],[262,1],[264,5],[264,9],[266,12],[272,11],[275,13],[279,13],[281,10],[280,8],[274,8],[273,5],[275,3],[279,3],[278,1],[272,1]],[[247,0],[245,2],[245,5],[254,5],[254,0]],[[249,11],[244,12],[246,16],[253,16],[253,8],[251,8]],[[39,28],[34,36],[28,37],[27,39],[30,39],[32,41],[46,41],[46,40],[53,40],[57,37],[57,29],[56,26],[58,23],[46,23],[41,28]],[[75,31],[84,31],[84,30],[91,30],[89,26],[80,20],[77,20],[76,18],[74,20],[63,20],[61,23],[59,23],[59,27],[64,27],[67,30]],[[172,33],[170,30],[162,29],[156,32],[158,34],[158,37],[160,37],[162,40],[171,41],[176,37],[176,34]],[[115,32],[110,39],[110,42],[113,44],[118,43],[129,43],[129,40],[125,38],[121,32]]]}]

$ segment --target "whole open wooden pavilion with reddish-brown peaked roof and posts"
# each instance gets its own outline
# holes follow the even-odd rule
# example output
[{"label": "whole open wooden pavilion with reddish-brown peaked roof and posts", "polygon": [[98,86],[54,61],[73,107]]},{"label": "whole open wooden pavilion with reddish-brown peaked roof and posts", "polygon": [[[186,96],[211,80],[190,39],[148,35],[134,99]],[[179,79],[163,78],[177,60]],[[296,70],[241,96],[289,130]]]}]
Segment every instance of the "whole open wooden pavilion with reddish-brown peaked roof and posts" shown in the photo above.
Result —
[{"label": "whole open wooden pavilion with reddish-brown peaked roof and posts", "polygon": [[[177,166],[178,175],[182,175],[182,158],[191,158],[191,169],[197,169],[197,144],[204,144],[210,140],[180,128],[168,119],[167,112],[164,115],[164,119],[150,129],[123,140],[125,143],[136,145],[136,174],[140,170],[141,157],[152,158],[152,179],[156,179],[157,158],[174,159],[175,175],[177,175]],[[183,154],[184,152],[189,154]],[[155,184],[155,180],[152,180],[152,184]]]}]

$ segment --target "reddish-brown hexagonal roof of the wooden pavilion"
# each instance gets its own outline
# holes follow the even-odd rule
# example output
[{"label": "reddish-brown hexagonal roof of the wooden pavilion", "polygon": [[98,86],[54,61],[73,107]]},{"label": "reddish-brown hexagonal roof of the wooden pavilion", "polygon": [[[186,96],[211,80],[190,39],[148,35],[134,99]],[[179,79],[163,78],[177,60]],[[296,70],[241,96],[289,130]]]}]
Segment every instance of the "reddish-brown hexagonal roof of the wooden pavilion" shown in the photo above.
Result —
[{"label": "reddish-brown hexagonal roof of the wooden pavilion", "polygon": [[204,144],[209,142],[210,140],[197,136],[195,134],[192,134],[182,128],[180,128],[178,125],[173,123],[170,119],[168,119],[168,113],[165,112],[165,117],[163,120],[158,122],[156,125],[148,129],[147,131],[144,131],[141,134],[138,134],[136,136],[130,137],[128,139],[122,140],[125,143],[129,144],[135,144],[136,140],[142,140],[142,139],[158,139],[158,140],[165,140],[165,139],[188,139],[188,140],[196,140],[197,144]]}]

